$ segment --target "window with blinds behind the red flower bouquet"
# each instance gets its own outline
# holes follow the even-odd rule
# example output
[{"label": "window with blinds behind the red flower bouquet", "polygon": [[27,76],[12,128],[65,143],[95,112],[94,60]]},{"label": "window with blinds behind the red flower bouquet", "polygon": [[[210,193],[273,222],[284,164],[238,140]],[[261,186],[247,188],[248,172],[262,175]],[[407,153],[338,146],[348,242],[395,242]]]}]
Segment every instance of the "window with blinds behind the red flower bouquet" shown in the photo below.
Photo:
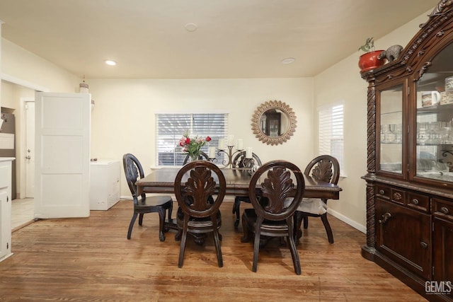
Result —
[{"label": "window with blinds behind the red flower bouquet", "polygon": [[[157,165],[183,165],[186,154],[182,153],[179,140],[185,132],[190,137],[211,137],[202,147],[208,154],[209,146],[219,146],[219,139],[228,132],[226,113],[165,113],[156,115]],[[217,154],[216,154],[217,156]],[[222,162],[222,156],[217,161]]]}]

